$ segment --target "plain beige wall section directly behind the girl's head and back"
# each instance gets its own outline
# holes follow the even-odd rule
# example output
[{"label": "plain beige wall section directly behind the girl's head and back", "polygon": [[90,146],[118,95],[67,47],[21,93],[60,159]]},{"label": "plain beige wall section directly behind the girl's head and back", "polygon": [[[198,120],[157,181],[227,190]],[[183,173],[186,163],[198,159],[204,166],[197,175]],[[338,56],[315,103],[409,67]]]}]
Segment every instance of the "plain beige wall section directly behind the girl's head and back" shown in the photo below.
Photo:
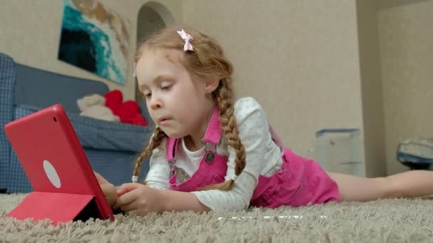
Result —
[{"label": "plain beige wall section directly behind the girl's head and back", "polygon": [[184,21],[223,45],[239,96],[259,99],[286,146],[362,129],[355,1],[185,0]]}]

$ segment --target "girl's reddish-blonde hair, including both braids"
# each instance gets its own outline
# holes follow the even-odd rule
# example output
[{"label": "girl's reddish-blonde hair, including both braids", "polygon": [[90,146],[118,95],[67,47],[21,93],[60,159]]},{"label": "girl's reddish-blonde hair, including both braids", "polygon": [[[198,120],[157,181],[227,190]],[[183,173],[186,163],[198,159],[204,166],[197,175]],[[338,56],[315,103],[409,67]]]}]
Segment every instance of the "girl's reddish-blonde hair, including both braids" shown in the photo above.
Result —
[{"label": "girl's reddish-blonde hair, including both braids", "polygon": [[[239,127],[234,117],[234,92],[232,89],[231,74],[233,67],[224,57],[221,45],[216,43],[213,38],[186,26],[175,26],[162,29],[148,38],[135,55],[135,63],[142,57],[145,50],[149,49],[167,49],[184,51],[184,40],[180,38],[177,31],[184,29],[194,40],[191,41],[194,50],[184,52],[182,65],[188,70],[189,74],[197,77],[198,80],[219,80],[219,85],[212,92],[212,99],[220,109],[219,121],[221,122],[224,136],[229,146],[236,152],[234,174],[240,175],[245,168],[245,148],[239,139]],[[140,172],[142,161],[150,156],[153,149],[160,146],[163,138],[167,134],[160,128],[156,127],[149,145],[145,148],[135,161],[134,175]],[[233,188],[234,180],[228,180],[223,183],[212,184],[199,188],[199,190],[230,190]]]}]

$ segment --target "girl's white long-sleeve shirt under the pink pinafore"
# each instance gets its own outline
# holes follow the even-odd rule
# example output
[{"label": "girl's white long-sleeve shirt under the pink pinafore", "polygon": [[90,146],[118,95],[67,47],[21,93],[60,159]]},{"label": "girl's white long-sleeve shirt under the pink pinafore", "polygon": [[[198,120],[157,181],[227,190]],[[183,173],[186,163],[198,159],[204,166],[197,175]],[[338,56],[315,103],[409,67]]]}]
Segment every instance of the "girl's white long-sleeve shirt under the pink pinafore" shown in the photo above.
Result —
[{"label": "girl's white long-sleeve shirt under the pink pinafore", "polygon": [[[280,171],[281,149],[271,139],[266,114],[259,102],[252,97],[241,98],[234,104],[234,116],[239,126],[239,137],[246,151],[246,166],[234,183],[234,188],[223,190],[194,191],[200,202],[212,210],[244,210],[249,207],[259,175],[273,175]],[[166,157],[167,140],[155,148],[150,158],[150,171],[145,182],[152,188],[169,189],[170,166]],[[199,168],[204,153],[204,146],[198,151],[189,151],[184,139],[177,147],[175,166],[178,173],[177,182],[191,177]],[[227,144],[224,134],[221,143],[216,146],[216,153],[228,158],[225,180],[234,175],[235,151]]]}]

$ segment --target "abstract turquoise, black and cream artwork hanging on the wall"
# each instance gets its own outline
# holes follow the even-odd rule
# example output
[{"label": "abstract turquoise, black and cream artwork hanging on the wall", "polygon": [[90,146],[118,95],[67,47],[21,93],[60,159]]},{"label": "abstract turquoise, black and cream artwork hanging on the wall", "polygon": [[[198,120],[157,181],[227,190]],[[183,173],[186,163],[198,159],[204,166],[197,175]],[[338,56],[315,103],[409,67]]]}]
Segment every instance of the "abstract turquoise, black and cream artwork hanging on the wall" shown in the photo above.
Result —
[{"label": "abstract turquoise, black and cream artwork hanging on the wall", "polygon": [[63,0],[58,59],[125,85],[129,24],[96,0]]}]

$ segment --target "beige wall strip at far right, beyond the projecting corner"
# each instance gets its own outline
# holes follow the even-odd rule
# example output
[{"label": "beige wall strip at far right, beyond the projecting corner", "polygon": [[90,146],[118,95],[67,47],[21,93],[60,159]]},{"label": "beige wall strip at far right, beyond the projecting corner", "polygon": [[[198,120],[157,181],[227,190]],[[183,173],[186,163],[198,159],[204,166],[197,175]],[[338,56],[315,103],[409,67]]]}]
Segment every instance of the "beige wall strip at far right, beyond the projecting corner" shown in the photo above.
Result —
[{"label": "beige wall strip at far right, beyond the projecting corner", "polygon": [[[397,1],[398,2],[398,1]],[[406,171],[397,145],[412,136],[433,137],[433,1],[379,6],[387,173]]]}]

